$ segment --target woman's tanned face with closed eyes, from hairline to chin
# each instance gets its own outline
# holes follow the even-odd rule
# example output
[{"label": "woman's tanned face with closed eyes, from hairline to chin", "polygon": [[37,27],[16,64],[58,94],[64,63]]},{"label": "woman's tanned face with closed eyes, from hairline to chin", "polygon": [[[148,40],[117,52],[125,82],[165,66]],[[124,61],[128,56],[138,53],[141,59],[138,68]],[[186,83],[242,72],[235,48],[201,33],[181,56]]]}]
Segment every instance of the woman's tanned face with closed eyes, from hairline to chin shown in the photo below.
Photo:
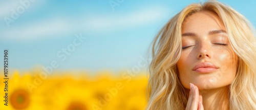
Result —
[{"label": "woman's tanned face with closed eyes, from hairline to chin", "polygon": [[188,16],[182,24],[182,53],[177,63],[180,81],[199,90],[229,85],[237,71],[233,52],[220,18],[209,11]]}]

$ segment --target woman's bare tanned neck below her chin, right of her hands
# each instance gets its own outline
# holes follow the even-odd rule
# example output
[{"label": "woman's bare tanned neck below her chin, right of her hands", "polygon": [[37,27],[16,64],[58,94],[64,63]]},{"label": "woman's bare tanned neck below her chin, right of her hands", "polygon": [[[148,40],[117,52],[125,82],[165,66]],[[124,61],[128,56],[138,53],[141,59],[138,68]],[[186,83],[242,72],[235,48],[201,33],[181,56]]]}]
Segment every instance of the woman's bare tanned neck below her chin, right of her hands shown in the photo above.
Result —
[{"label": "woman's bare tanned neck below her chin, right of her hands", "polygon": [[224,86],[212,90],[200,90],[199,94],[203,97],[204,109],[229,109],[228,100],[229,87]]}]

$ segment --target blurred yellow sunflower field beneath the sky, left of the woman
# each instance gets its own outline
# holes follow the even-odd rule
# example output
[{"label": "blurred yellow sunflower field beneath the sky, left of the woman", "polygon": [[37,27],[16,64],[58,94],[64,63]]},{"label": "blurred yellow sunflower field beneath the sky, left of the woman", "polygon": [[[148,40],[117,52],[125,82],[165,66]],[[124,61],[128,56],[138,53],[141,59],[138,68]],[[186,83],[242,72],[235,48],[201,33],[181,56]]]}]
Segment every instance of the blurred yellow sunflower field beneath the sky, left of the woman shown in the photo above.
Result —
[{"label": "blurred yellow sunflower field beneath the sky, left of the woman", "polygon": [[37,70],[24,73],[14,70],[8,80],[8,106],[4,105],[2,76],[1,110],[140,110],[146,105],[146,72],[114,75],[100,71],[92,75],[70,71],[44,76]]}]

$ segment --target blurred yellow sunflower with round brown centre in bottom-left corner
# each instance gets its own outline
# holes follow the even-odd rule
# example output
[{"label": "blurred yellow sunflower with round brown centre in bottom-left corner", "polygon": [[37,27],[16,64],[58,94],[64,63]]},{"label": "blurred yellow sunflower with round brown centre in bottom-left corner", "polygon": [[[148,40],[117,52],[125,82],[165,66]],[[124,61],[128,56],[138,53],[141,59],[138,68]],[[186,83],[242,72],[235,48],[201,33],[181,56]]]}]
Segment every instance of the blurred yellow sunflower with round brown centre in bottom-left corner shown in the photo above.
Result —
[{"label": "blurred yellow sunflower with round brown centre in bottom-left corner", "polygon": [[[19,75],[17,70],[13,72],[12,76],[10,75],[8,83],[8,107],[1,104],[0,109],[44,109],[44,106],[40,103],[41,96],[34,92],[31,93],[27,86],[27,83],[31,83],[33,78],[29,73],[24,74],[22,77]],[[3,95],[3,91],[0,94]],[[40,108],[37,108],[38,106]]]}]

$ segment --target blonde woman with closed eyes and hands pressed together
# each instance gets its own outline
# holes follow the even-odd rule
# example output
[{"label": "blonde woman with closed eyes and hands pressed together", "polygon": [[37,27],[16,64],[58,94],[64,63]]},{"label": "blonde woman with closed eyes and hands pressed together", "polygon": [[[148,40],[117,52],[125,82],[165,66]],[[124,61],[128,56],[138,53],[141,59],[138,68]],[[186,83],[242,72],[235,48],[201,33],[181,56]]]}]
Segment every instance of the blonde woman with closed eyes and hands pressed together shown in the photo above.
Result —
[{"label": "blonde woman with closed eyes and hands pressed together", "polygon": [[146,109],[256,109],[254,31],[217,1],[184,8],[153,41]]}]

